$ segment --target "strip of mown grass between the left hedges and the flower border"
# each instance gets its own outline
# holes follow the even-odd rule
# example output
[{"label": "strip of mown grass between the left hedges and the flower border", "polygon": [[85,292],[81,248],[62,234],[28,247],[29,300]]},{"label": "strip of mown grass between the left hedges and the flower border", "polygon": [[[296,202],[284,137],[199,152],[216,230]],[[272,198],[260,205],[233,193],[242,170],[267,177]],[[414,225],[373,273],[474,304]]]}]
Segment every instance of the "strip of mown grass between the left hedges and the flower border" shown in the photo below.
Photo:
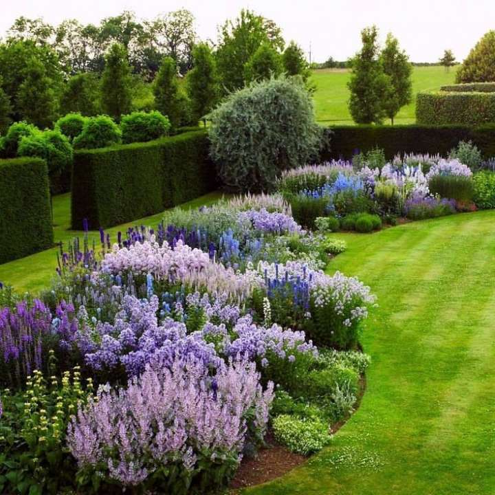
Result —
[{"label": "strip of mown grass between the left hedges and the flower border", "polygon": [[[184,203],[181,205],[181,208],[199,208],[199,206],[218,201],[220,197],[220,192],[210,192],[208,195]],[[55,242],[60,243],[62,241],[64,246],[66,246],[67,241],[74,239],[74,237],[79,236],[82,239],[83,232],[80,230],[70,230],[70,193],[55,196],[53,200],[53,210]],[[127,228],[134,225],[146,225],[155,228],[162,220],[162,217],[163,213],[158,213],[151,217],[118,225],[105,230],[105,232],[110,234],[112,242],[116,242],[117,232],[119,230],[124,232]],[[89,239],[91,243],[93,242],[93,239],[95,239],[99,244],[99,232],[90,232]],[[60,248],[52,248],[0,265],[0,282],[6,285],[12,285],[12,287],[19,292],[39,292],[39,290],[47,287],[52,278],[56,275],[56,252],[59,249]]]}]

